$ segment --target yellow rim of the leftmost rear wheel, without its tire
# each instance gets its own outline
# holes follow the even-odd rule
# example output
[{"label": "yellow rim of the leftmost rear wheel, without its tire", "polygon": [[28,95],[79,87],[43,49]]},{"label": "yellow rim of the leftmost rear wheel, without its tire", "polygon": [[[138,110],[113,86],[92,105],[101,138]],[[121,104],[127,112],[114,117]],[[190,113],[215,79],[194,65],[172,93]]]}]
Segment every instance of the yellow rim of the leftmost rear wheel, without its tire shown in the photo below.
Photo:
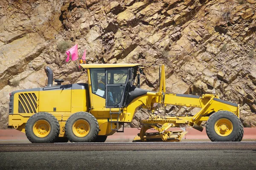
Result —
[{"label": "yellow rim of the leftmost rear wheel, without its tire", "polygon": [[46,120],[38,120],[33,125],[33,132],[35,136],[39,138],[44,138],[49,135],[51,130],[50,124]]}]

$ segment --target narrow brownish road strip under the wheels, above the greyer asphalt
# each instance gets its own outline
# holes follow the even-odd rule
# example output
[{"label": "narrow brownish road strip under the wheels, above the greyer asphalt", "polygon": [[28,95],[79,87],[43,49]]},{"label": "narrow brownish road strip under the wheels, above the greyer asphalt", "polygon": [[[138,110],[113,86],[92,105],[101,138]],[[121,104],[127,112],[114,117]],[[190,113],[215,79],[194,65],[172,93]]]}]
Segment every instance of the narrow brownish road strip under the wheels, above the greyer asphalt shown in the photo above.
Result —
[{"label": "narrow brownish road strip under the wheels, above the greyer asphalt", "polygon": [[109,142],[0,144],[0,152],[94,150],[256,150],[256,142]]}]

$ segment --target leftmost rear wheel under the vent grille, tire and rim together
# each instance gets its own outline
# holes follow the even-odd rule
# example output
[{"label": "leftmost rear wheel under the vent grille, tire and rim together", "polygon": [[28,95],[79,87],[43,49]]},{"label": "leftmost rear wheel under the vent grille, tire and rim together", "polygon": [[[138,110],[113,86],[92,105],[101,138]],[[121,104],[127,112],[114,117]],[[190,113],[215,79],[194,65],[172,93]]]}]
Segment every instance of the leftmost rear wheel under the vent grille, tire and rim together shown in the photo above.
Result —
[{"label": "leftmost rear wheel under the vent grille, tire and rim together", "polygon": [[32,143],[53,143],[60,133],[60,125],[52,114],[39,112],[28,119],[25,132]]}]

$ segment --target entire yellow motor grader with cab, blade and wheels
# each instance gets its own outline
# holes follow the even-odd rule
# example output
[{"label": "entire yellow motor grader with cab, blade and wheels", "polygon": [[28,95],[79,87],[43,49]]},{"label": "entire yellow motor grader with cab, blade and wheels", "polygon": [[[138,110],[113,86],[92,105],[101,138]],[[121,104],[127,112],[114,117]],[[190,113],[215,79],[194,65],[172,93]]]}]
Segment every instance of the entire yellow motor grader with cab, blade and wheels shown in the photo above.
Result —
[{"label": "entire yellow motor grader with cab, blade and wheels", "polygon": [[[140,64],[80,64],[87,69],[88,84],[61,85],[46,67],[48,85],[14,91],[10,94],[9,127],[26,133],[32,143],[105,142],[107,136],[123,132],[142,106],[150,112],[141,121],[141,130],[134,141],[180,142],[186,131],[169,131],[170,127],[189,125],[206,131],[211,141],[236,141],[243,137],[239,105],[219,99],[215,94],[194,96],[166,93],[164,65],[160,66],[159,91],[140,88]],[[135,80],[137,83],[135,84]],[[158,106],[156,106],[156,104]],[[157,114],[159,105],[198,107],[194,116]],[[155,129],[156,132],[147,132]]]}]

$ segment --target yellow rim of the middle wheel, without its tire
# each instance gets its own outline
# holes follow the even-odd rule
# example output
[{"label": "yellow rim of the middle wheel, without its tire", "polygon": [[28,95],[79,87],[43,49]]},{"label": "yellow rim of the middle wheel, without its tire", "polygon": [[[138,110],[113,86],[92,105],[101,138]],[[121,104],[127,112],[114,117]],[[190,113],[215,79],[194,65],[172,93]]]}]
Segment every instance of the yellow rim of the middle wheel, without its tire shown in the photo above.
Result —
[{"label": "yellow rim of the middle wheel, without its tire", "polygon": [[86,120],[79,119],[73,124],[72,130],[77,137],[82,138],[88,135],[90,131],[90,125]]}]

